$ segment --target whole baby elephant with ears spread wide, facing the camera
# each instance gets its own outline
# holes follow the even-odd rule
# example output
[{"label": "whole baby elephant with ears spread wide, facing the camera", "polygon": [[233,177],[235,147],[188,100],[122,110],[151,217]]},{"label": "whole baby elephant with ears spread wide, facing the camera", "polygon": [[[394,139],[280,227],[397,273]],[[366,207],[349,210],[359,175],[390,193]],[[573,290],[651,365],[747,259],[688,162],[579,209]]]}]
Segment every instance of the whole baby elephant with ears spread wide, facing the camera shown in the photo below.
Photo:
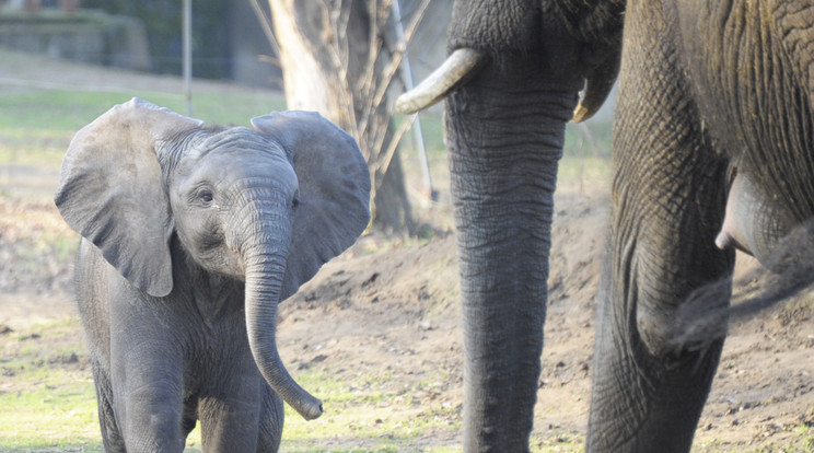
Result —
[{"label": "whole baby elephant with ears spread wide, facing the camera", "polygon": [[[77,292],[105,450],[277,451],[289,375],[277,305],[370,220],[368,166],[318,114],[244,127],[133,98],[74,137],[55,200],[82,235]],[[280,399],[282,398],[282,400]]]}]

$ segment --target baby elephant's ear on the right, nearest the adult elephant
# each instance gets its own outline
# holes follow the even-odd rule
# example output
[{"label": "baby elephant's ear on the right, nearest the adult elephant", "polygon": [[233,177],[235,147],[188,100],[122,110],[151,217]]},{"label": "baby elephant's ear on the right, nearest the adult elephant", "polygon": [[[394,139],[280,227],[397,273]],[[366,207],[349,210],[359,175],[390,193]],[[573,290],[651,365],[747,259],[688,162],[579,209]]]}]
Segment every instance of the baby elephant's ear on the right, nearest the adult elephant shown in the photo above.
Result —
[{"label": "baby elephant's ear on the right, nearest the adult elephant", "polygon": [[353,138],[317,113],[272,113],[253,118],[252,126],[286,148],[300,182],[284,300],[368,226],[370,172]]}]

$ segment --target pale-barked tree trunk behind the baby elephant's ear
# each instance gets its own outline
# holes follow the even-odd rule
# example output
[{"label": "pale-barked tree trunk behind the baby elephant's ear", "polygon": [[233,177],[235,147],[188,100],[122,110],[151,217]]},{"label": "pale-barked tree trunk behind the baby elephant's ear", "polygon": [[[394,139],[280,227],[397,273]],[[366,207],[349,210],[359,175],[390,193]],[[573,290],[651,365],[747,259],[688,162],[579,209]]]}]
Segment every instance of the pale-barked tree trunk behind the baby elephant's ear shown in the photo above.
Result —
[{"label": "pale-barked tree trunk behind the baby elephant's ear", "polygon": [[[269,0],[288,108],[316,111],[359,142],[371,169],[373,223],[410,231],[409,202],[398,155],[385,155],[394,137],[391,113],[374,95],[386,85],[377,1]],[[325,4],[328,4],[326,8]],[[382,51],[380,51],[382,50]]]}]

